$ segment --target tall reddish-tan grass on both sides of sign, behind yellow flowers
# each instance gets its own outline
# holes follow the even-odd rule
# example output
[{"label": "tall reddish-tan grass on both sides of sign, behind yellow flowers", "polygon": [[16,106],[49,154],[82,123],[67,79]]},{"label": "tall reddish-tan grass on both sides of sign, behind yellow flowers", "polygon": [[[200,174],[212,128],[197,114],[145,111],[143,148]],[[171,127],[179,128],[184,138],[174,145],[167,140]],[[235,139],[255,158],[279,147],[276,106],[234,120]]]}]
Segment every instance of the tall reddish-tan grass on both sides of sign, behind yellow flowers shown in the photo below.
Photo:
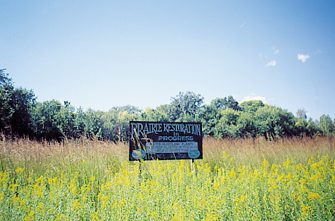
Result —
[{"label": "tall reddish-tan grass on both sides of sign, behind yellow flowers", "polygon": [[[127,142],[88,140],[85,137],[60,143],[28,139],[0,141],[0,160],[6,169],[13,171],[22,167],[27,171],[33,170],[35,174],[50,176],[78,172],[83,176],[85,174],[86,178],[94,174],[98,179],[106,180],[110,171],[118,172],[120,165],[127,162],[128,151]],[[276,141],[267,141],[263,137],[237,140],[206,137],[203,140],[203,159],[195,160],[195,164],[204,162],[214,168],[224,162],[224,152],[234,157],[231,165],[237,168],[244,165],[259,167],[264,159],[270,165],[281,164],[288,158],[295,164],[307,164],[310,157],[328,154],[335,159],[335,142],[333,137],[298,137]]]}]

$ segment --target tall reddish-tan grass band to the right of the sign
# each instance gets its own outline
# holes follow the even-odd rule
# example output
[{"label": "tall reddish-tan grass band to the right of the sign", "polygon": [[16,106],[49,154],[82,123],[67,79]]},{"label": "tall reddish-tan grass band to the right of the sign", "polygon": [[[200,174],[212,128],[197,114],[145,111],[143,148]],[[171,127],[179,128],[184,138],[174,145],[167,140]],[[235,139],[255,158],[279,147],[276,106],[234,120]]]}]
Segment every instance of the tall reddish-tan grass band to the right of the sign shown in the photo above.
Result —
[{"label": "tall reddish-tan grass band to the right of the sign", "polygon": [[257,166],[264,159],[269,164],[280,164],[288,158],[295,164],[307,164],[310,157],[329,155],[335,157],[334,137],[293,137],[268,141],[256,139],[206,138],[203,142],[204,161],[212,166],[222,161],[222,152],[234,157],[234,166]]}]

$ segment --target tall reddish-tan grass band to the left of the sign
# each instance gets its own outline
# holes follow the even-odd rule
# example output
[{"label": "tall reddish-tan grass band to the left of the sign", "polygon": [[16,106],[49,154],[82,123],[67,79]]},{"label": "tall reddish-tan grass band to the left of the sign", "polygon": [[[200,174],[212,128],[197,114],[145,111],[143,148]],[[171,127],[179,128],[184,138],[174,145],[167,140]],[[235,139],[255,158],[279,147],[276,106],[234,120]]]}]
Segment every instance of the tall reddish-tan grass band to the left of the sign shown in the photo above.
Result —
[{"label": "tall reddish-tan grass band to the left of the sign", "polygon": [[102,180],[106,179],[110,171],[119,171],[122,162],[127,160],[127,149],[124,142],[85,138],[64,140],[61,143],[3,140],[0,142],[0,160],[8,171],[21,167],[26,171],[34,171],[36,176],[72,176],[79,173],[86,180],[92,175]]}]

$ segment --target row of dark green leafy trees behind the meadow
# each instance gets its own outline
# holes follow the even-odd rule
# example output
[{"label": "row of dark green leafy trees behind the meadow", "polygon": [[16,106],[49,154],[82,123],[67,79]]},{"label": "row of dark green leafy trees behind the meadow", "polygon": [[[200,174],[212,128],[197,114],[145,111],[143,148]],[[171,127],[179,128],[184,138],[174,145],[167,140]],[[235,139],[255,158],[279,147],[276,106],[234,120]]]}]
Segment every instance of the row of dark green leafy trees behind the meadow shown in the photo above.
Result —
[{"label": "row of dark green leafy trees behind the meadow", "polygon": [[110,108],[109,111],[84,111],[68,101],[38,102],[33,90],[14,87],[0,69],[0,130],[6,137],[34,140],[88,138],[112,141],[128,139],[129,121],[201,122],[203,135],[217,138],[334,135],[335,120],[322,115],[307,120],[304,108],[293,113],[262,101],[239,104],[232,96],[215,98],[208,105],[203,96],[192,91],[171,97],[169,104],[140,110],[135,106]]}]

